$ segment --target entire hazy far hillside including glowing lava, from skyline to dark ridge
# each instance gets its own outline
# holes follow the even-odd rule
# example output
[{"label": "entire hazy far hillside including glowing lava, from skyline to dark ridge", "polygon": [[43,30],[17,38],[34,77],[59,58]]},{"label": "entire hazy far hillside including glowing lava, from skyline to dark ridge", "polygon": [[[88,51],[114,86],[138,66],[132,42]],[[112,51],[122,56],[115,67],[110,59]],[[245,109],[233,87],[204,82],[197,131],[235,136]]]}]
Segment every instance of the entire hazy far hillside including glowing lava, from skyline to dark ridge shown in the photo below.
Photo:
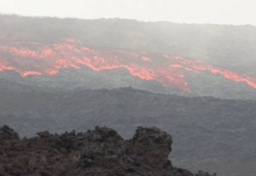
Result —
[{"label": "entire hazy far hillside including glowing lava, from skyline to dark ridge", "polygon": [[[223,53],[224,59],[221,55],[211,58],[187,55],[187,49],[182,50],[183,53],[171,53],[173,48],[182,49],[189,45],[201,55],[199,46],[192,45],[190,40],[190,37],[197,34],[188,35],[191,29],[187,29],[186,25],[169,23],[170,26],[163,26],[164,23],[143,23],[124,19],[87,21],[6,15],[0,16],[0,22],[0,78],[2,79],[28,86],[44,87],[42,89],[45,87],[113,89],[133,86],[136,89],[155,93],[190,97],[256,99],[256,76],[249,68],[254,68],[254,63],[250,60],[254,60],[255,50],[248,46],[254,44],[254,40],[250,38],[253,35],[253,30],[250,31],[252,26],[242,26],[241,29],[238,26],[214,26],[217,34],[220,31],[225,34],[227,33],[225,30],[229,30],[230,38],[235,42],[249,42],[248,45],[238,47],[233,46],[235,42],[227,44],[218,41],[220,42],[218,49],[223,50],[214,53]],[[121,24],[122,30],[119,28]],[[100,25],[104,28],[100,28]],[[209,32],[211,28],[208,27],[199,25],[198,28],[193,29],[194,32],[200,32],[202,28],[206,32],[206,36],[203,35],[195,40],[215,38],[217,35],[215,30]],[[248,31],[247,28],[250,30]],[[145,31],[146,29],[149,31]],[[79,30],[82,31],[78,32]],[[106,31],[111,30],[113,30],[112,35],[108,35]],[[162,32],[163,30],[165,32]],[[239,33],[237,38],[238,36],[233,34],[233,31],[237,30],[248,31],[250,35]],[[221,33],[221,36],[224,34]],[[146,37],[140,38],[141,35]],[[173,40],[169,35],[180,38]],[[127,40],[122,39],[127,36],[129,36]],[[91,37],[92,40],[89,39]],[[137,45],[130,43],[138,38],[140,42]],[[97,42],[93,42],[94,40]],[[174,43],[167,47],[169,50],[153,50],[145,47],[143,42],[159,47]],[[210,41],[208,42],[210,45]],[[251,56],[234,60],[233,56],[226,53],[231,51],[227,51],[225,45],[232,49],[233,54],[239,49],[241,55],[248,55],[247,52],[250,52]],[[136,47],[131,48],[131,46]],[[210,46],[209,50],[216,47]],[[207,55],[206,52],[205,54]],[[209,57],[210,60],[205,57]],[[220,58],[227,63],[224,64],[223,59],[218,62]],[[243,69],[241,67],[243,64],[247,64],[248,69]]]}]

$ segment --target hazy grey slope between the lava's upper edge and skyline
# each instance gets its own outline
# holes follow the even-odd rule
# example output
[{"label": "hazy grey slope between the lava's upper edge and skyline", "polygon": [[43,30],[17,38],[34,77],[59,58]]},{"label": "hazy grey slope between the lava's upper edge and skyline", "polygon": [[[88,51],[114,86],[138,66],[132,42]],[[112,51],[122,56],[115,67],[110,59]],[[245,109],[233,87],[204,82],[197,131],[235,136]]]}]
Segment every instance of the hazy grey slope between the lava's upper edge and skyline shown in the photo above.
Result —
[{"label": "hazy grey slope between the lava's upper edge and skyline", "polygon": [[85,20],[7,15],[0,16],[0,25],[0,33],[8,32],[8,36],[18,37],[22,41],[32,39],[35,42],[53,43],[62,41],[63,37],[75,38],[113,48],[191,57],[228,69],[256,74],[256,26],[251,25],[198,25],[129,19]]}]

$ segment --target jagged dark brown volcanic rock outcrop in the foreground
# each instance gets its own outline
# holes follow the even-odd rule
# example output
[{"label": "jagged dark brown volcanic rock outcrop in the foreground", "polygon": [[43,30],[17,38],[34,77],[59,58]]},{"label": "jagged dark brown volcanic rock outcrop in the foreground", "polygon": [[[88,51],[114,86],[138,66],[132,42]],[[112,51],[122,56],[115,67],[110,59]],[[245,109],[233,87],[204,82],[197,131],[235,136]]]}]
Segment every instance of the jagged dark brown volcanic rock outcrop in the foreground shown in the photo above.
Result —
[{"label": "jagged dark brown volcanic rock outcrop in the foreground", "polygon": [[211,176],[173,167],[168,160],[171,136],[156,127],[138,127],[130,140],[107,127],[37,134],[21,140],[8,126],[0,128],[0,175]]}]

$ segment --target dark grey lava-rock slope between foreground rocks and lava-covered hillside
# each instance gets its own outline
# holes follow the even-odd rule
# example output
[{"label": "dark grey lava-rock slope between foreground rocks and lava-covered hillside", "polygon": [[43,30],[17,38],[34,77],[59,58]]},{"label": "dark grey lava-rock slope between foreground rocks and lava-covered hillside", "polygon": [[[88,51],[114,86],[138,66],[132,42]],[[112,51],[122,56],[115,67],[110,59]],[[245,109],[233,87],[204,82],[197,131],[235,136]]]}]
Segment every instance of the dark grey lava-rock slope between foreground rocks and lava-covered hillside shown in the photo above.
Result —
[{"label": "dark grey lava-rock slope between foreground rocks and lava-covered hillside", "polygon": [[21,137],[99,125],[130,138],[137,126],[156,126],[172,134],[170,157],[176,165],[220,175],[255,171],[256,101],[188,98],[132,87],[69,92],[26,87],[1,90],[0,95],[1,125],[8,124]]}]

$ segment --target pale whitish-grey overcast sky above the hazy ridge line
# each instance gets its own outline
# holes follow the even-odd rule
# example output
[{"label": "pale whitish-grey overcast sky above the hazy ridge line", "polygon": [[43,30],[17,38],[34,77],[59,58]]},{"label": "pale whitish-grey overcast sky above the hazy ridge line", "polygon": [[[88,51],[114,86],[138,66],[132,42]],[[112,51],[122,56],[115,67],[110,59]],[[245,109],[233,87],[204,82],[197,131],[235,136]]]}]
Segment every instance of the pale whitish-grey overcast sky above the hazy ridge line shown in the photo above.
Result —
[{"label": "pale whitish-grey overcast sky above the hazy ridge line", "polygon": [[256,0],[0,0],[0,12],[256,26]]}]

